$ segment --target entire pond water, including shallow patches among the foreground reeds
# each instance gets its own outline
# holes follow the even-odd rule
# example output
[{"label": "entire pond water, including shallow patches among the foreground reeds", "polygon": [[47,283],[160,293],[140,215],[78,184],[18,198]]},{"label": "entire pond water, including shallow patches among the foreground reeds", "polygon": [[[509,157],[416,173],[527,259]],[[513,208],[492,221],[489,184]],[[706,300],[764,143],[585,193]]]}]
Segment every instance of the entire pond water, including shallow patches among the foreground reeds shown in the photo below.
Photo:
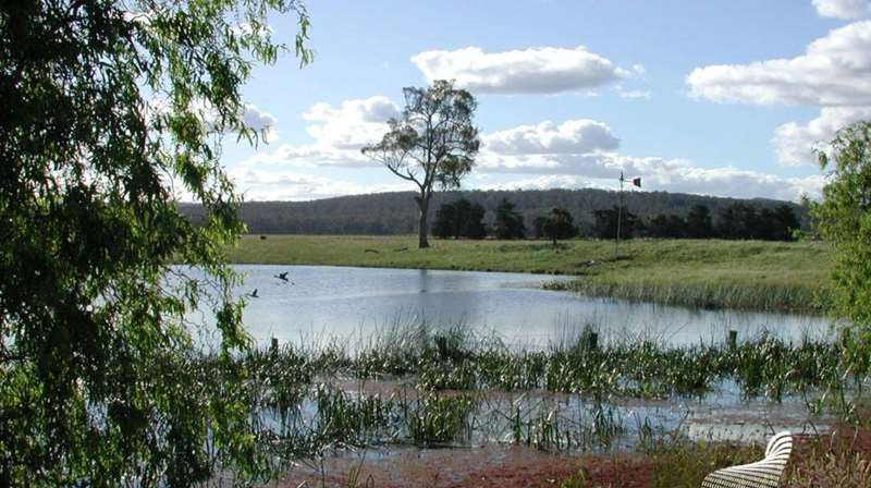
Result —
[{"label": "entire pond water, including shallow patches among the foreground reeds", "polygon": [[[261,345],[273,337],[282,343],[314,349],[336,340],[351,352],[394,324],[421,320],[433,326],[462,325],[528,349],[576,338],[587,325],[598,329],[602,342],[647,337],[671,345],[724,341],[728,330],[737,330],[739,340],[769,332],[798,341],[803,335],[822,337],[829,329],[827,320],[822,317],[698,310],[541,290],[545,282],[572,279],[548,274],[327,266],[236,266],[235,269],[246,276],[237,294],[257,290],[257,297],[250,297],[245,309],[244,321]],[[284,272],[286,281],[277,278]],[[196,277],[197,271],[188,273]],[[206,315],[199,318],[209,321]],[[332,381],[333,388],[347,392],[349,398],[383,393],[388,401],[397,401],[407,399],[403,385],[409,379],[358,380],[340,376],[320,377],[318,381]],[[414,385],[414,379],[410,381]],[[298,408],[293,408],[303,420],[290,423],[289,428],[318,425],[318,390],[305,391],[307,395]],[[746,398],[734,379],[714,382],[701,395],[609,398],[604,403],[580,392],[478,393],[481,396],[476,396],[479,400],[469,414],[475,428],[461,443],[504,442],[511,438],[513,418],[506,413],[520,411],[528,422],[556,415],[561,428],[580,439],[573,448],[580,450],[605,449],[596,447],[601,439],[590,434],[598,428],[601,415],[619,426],[615,434],[606,436],[610,446],[606,449],[629,451],[645,432],[680,431],[691,439],[748,441],[764,440],[772,429],[803,432],[812,428],[824,430],[831,424],[830,416],[811,415],[806,407],[807,399],[796,392],[787,392],[778,401],[765,398],[764,393]],[[817,395],[813,392],[808,398]],[[413,401],[412,407],[419,404]],[[269,425],[277,432],[285,428],[282,415],[270,415]],[[388,451],[395,448],[389,440],[383,442]]]}]

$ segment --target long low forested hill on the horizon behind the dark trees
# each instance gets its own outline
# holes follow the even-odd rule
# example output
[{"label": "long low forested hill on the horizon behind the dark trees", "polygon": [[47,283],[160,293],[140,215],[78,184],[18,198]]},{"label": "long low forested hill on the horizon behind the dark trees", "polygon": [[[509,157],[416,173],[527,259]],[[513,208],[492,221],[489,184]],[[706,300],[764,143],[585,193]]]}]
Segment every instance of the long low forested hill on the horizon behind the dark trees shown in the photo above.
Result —
[{"label": "long low forested hill on the horizon behind the dark trees", "polygon": [[[527,227],[536,217],[552,207],[572,212],[575,222],[584,228],[592,222],[592,210],[617,205],[617,193],[604,190],[536,190],[536,191],[466,191],[437,193],[430,204],[430,222],[441,204],[466,198],[487,209],[486,221],[493,221],[493,209],[502,198],[516,204]],[[667,192],[625,192],[628,211],[645,218],[657,213],[684,216],[694,205],[707,205],[714,219],[717,210],[737,202],[773,208],[781,200],[720,198]],[[789,204],[803,217],[802,209]],[[181,210],[194,221],[200,220],[201,209],[182,204]],[[248,202],[242,206],[242,218],[255,234],[409,234],[416,231],[417,205],[412,192],[377,193],[326,198],[311,202]]]}]

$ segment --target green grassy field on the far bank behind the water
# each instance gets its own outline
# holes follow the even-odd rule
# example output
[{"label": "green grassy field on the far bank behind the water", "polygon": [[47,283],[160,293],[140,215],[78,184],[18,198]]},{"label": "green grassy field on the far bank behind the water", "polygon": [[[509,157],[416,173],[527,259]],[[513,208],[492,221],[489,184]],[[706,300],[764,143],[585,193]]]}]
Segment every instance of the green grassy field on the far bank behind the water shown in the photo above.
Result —
[{"label": "green grassy field on the far bank behind the water", "polygon": [[431,241],[415,236],[246,235],[240,264],[334,265],[516,271],[579,277],[559,284],[592,296],[707,308],[820,312],[830,281],[827,246],[815,242],[636,240]]}]

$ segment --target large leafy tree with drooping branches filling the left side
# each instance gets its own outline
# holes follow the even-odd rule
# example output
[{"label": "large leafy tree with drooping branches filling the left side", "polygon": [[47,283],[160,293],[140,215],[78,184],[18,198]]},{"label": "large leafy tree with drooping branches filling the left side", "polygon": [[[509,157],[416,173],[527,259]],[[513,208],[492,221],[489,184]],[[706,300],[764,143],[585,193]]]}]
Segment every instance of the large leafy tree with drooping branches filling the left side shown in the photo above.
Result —
[{"label": "large leafy tree with drooping branches filling the left side", "polygon": [[[273,13],[297,22],[289,46]],[[240,90],[283,50],[309,61],[308,26],[296,0],[0,2],[0,486],[268,474],[233,362],[249,339],[223,249],[244,225],[219,155],[260,139]],[[212,284],[168,279],[180,261]]]}]

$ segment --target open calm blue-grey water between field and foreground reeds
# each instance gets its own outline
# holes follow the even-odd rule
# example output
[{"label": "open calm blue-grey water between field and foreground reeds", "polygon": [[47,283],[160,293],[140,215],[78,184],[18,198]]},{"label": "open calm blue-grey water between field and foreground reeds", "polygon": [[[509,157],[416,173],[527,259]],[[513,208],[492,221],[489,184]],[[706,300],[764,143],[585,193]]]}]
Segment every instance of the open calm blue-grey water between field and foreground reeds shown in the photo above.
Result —
[{"label": "open calm blue-grey water between field and foreground reeds", "polygon": [[[544,291],[542,283],[560,279],[545,274],[330,266],[236,269],[246,276],[238,293],[257,290],[244,320],[259,341],[351,340],[396,321],[419,320],[463,324],[520,345],[571,338],[588,324],[604,340],[647,335],[674,344],[722,341],[727,330],[737,330],[739,339],[766,330],[796,340],[827,330],[819,317],[692,310]],[[286,282],[275,277],[285,271]]]}]

